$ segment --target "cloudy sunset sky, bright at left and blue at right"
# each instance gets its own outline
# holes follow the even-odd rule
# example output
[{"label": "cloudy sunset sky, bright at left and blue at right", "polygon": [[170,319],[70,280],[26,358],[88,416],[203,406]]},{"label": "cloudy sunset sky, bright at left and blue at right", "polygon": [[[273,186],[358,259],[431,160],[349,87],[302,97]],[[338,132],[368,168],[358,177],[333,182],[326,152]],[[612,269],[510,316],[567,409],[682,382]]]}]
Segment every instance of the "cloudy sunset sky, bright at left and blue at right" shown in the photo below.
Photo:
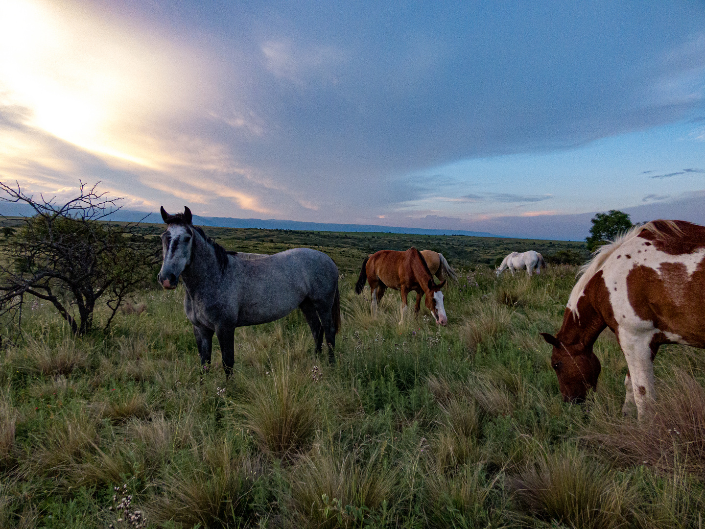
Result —
[{"label": "cloudy sunset sky, bright at left and blue at right", "polygon": [[705,4],[0,0],[0,181],[209,217],[705,224]]}]

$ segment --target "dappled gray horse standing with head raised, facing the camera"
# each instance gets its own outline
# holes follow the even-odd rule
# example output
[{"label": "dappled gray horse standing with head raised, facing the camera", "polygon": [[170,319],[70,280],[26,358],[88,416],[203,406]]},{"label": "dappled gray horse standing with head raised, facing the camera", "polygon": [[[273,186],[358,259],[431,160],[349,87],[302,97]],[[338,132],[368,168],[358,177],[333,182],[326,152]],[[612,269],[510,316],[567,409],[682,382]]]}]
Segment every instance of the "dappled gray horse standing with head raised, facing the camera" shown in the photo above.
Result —
[{"label": "dappled gray horse standing with head raised, facing the camera", "polygon": [[316,352],[323,335],[329,360],[341,327],[338,267],[326,254],[293,248],[244,260],[228,252],[192,224],[191,211],[170,215],[161,207],[166,231],[161,234],[164,262],[157,280],[166,289],[183,278],[183,308],[193,324],[204,368],[211,361],[213,334],[221,346],[226,376],[235,363],[235,327],[274,322],[297,307],[311,327]]}]

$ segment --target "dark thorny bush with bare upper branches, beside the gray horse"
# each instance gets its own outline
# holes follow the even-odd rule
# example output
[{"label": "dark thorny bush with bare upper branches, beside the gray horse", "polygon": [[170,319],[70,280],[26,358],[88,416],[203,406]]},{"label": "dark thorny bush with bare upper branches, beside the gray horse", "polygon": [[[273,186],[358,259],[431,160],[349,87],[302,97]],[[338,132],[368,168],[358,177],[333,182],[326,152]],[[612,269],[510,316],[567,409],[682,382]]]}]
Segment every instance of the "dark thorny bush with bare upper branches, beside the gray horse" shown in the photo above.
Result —
[{"label": "dark thorny bush with bare upper branches, beside the gray horse", "polygon": [[0,182],[0,200],[24,202],[35,210],[23,229],[0,252],[0,315],[21,324],[24,296],[46,300],[71,327],[85,334],[93,326],[99,299],[109,309],[105,328],[125,298],[151,274],[158,250],[137,233],[138,224],[104,220],[120,198],[80,183],[78,196],[64,205],[56,197],[35,198]]}]

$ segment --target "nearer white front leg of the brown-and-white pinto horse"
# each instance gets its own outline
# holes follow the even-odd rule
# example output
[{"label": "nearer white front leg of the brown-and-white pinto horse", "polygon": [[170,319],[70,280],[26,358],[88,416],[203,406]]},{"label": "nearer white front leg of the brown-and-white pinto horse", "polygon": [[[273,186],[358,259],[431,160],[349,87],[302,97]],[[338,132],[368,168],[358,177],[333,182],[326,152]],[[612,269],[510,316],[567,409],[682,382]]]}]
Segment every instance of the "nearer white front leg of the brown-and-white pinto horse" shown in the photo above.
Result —
[{"label": "nearer white front leg of the brown-and-white pinto horse", "polygon": [[619,329],[619,343],[629,367],[632,394],[637,405],[637,416],[644,420],[649,415],[649,405],[656,397],[654,390],[654,363],[649,346],[654,333],[627,334]]}]

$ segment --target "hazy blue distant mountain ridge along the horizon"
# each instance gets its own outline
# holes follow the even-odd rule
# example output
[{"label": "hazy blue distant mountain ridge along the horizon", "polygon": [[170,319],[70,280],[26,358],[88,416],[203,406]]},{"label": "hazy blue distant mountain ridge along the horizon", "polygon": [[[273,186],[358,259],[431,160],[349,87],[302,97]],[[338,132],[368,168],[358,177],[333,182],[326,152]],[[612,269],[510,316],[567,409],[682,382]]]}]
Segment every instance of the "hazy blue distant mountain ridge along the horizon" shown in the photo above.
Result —
[{"label": "hazy blue distant mountain ridge along the horizon", "polygon": [[[24,217],[34,214],[32,207],[22,204],[0,204],[0,214],[6,217]],[[135,211],[133,209],[120,209],[106,217],[106,220],[122,222],[148,222],[161,224],[159,213]],[[233,217],[201,217],[193,216],[193,224],[198,226],[214,226],[219,228],[259,228],[283,229],[295,231],[369,231],[388,233],[410,233],[412,235],[467,235],[472,237],[504,237],[486,231],[465,231],[457,229],[424,229],[403,228],[400,226],[378,226],[376,224],[329,224],[324,222],[302,222],[279,219],[235,219]]]}]

